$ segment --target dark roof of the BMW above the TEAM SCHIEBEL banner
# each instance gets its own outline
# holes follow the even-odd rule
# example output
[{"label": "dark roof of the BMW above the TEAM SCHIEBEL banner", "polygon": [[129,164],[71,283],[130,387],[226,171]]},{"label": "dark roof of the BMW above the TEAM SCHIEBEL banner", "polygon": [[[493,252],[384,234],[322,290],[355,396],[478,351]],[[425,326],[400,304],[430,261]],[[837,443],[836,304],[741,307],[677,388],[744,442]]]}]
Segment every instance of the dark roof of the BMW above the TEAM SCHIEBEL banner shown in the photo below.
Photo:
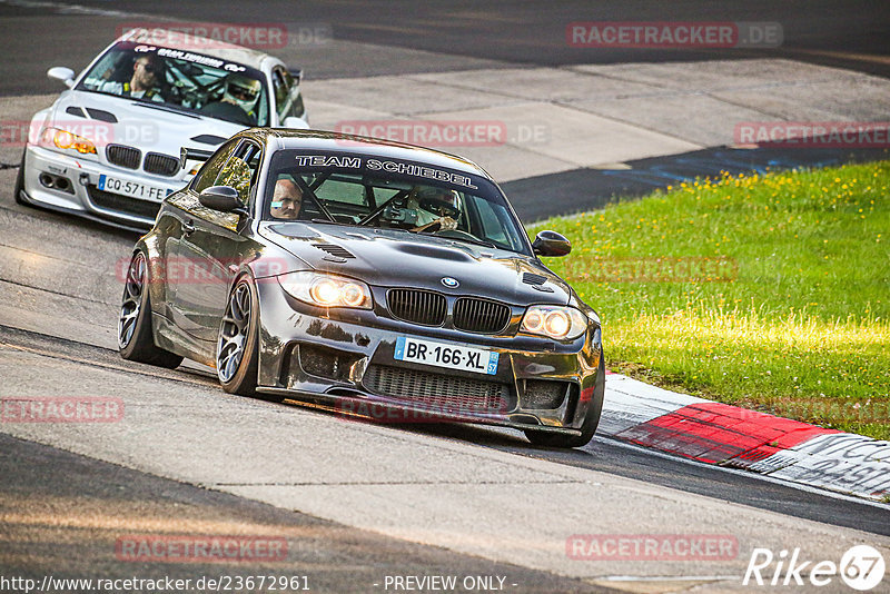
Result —
[{"label": "dark roof of the BMW above the TEAM SCHIEBEL banner", "polygon": [[383,138],[346,135],[327,130],[297,130],[290,128],[250,128],[238,136],[249,136],[256,140],[275,145],[277,149],[309,149],[345,154],[369,155],[380,158],[422,161],[437,167],[456,169],[465,174],[491,176],[469,159],[426,147],[396,142]]}]

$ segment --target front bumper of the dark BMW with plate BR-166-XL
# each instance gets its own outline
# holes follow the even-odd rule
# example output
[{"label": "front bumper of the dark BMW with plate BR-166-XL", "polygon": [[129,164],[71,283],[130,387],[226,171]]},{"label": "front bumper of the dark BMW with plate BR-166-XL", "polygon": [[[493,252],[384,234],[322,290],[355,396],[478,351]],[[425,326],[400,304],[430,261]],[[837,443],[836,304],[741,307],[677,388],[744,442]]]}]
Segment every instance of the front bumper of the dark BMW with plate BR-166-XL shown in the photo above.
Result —
[{"label": "front bumper of the dark BMW with plate BR-166-XL", "polygon": [[[593,324],[572,344],[556,344],[425,328],[367,310],[329,315],[293,299],[275,278],[260,279],[257,291],[260,393],[392,423],[446,419],[570,434],[580,433],[602,399]],[[497,352],[496,373],[396,360],[399,336]]]}]

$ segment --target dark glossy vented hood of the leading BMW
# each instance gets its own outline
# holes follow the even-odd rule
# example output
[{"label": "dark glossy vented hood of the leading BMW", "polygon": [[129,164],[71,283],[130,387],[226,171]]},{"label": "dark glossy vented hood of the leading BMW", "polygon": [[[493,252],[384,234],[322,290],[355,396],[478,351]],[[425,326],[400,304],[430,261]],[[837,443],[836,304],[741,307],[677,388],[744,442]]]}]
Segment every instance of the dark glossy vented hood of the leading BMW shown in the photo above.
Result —
[{"label": "dark glossy vented hood of the leading BMW", "polygon": [[[264,222],[259,232],[316,270],[383,287],[422,287],[514,305],[568,303],[571,289],[537,259],[395,229]],[[459,283],[446,288],[442,279]]]}]

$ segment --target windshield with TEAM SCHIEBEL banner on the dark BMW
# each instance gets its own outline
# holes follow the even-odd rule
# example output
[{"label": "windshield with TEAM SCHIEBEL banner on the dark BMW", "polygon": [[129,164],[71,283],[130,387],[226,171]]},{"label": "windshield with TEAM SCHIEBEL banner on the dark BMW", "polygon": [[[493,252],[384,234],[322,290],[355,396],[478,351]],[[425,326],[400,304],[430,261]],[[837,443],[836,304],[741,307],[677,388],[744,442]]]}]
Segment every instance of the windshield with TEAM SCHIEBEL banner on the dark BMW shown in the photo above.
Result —
[{"label": "windshield with TEAM SCHIEBEL banner on the dark BMW", "polygon": [[522,226],[490,180],[427,164],[285,150],[270,166],[266,220],[429,234],[527,254]]}]

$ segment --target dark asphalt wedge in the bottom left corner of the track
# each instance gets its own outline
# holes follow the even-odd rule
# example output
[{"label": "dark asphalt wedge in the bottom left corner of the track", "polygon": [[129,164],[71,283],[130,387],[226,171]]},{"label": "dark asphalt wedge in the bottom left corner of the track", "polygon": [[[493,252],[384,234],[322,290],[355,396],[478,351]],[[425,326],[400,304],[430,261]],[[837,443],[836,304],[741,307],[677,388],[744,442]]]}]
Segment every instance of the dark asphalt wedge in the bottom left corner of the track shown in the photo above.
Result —
[{"label": "dark asphalt wedge in the bottom left corner of the track", "polygon": [[[306,576],[316,592],[372,591],[385,575],[498,575],[514,592],[609,592],[580,580],[558,578],[515,565],[492,563],[434,546],[356,531],[270,505],[158,478],[120,466],[0,434],[0,507],[3,528],[3,574],[40,582],[85,576],[144,580],[198,576]],[[53,526],[44,518],[44,502],[55,502]],[[86,521],[78,521],[88,516]],[[175,531],[211,526],[218,534],[235,529],[250,535],[284,537],[286,563],[238,562],[179,564],[134,563],[109,558],[120,531],[113,518],[130,518],[138,532],[140,519],[169,518]],[[27,568],[9,558],[39,562]],[[521,587],[518,585],[521,584]]]}]

